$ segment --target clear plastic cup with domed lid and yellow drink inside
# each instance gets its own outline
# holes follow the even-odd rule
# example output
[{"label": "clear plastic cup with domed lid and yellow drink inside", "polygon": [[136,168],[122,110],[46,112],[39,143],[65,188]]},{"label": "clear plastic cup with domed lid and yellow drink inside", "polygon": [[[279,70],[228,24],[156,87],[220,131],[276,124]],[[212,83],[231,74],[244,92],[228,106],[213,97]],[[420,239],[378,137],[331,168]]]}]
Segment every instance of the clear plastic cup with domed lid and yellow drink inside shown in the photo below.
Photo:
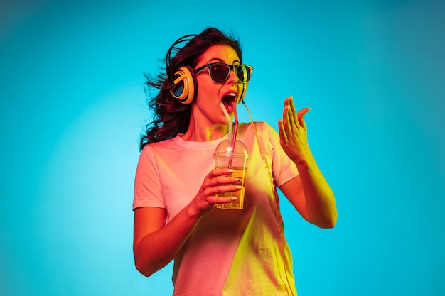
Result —
[{"label": "clear plastic cup with domed lid and yellow drink inside", "polygon": [[237,197],[233,202],[227,202],[225,204],[217,204],[219,209],[242,209],[244,206],[245,197],[245,184],[247,177],[247,161],[250,160],[245,143],[237,140],[235,141],[235,147],[230,146],[230,142],[225,140],[221,142],[213,154],[215,159],[216,168],[231,168],[235,170],[230,177],[236,177],[241,179],[242,189],[234,192],[224,192],[217,194],[216,197]]}]

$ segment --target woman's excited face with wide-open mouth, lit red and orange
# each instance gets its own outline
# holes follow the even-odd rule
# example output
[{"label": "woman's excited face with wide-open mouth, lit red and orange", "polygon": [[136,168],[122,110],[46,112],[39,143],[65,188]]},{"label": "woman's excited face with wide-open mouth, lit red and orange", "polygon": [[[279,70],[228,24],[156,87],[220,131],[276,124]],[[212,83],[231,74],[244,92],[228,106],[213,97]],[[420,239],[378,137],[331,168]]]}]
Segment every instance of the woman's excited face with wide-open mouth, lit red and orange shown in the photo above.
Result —
[{"label": "woman's excited face with wide-open mouth, lit red and orange", "polygon": [[[213,62],[223,62],[228,65],[240,65],[240,57],[229,45],[212,45],[201,55],[195,69]],[[232,116],[233,109],[244,97],[247,84],[237,79],[235,71],[231,70],[225,82],[214,82],[210,78],[210,69],[196,74],[198,82],[198,96],[192,105],[195,121],[200,124],[227,124],[227,118],[220,104],[223,103],[227,112]]]}]

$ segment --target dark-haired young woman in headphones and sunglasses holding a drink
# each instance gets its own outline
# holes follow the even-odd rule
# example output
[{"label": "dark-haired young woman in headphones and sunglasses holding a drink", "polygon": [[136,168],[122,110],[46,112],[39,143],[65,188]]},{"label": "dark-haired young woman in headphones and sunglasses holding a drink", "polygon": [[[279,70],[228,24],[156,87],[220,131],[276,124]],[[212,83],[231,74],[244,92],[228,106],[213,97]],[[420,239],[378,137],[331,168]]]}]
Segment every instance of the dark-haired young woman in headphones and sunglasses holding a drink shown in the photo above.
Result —
[{"label": "dark-haired young woman in headphones and sunglasses holding a drink", "polygon": [[310,223],[336,224],[333,192],[307,141],[309,109],[296,113],[291,98],[279,133],[264,122],[238,126],[251,155],[244,208],[215,207],[235,199],[216,194],[241,188],[232,170],[215,169],[213,153],[252,70],[237,40],[208,28],[177,40],[166,73],[149,78],[159,92],[136,170],[134,259],[146,276],[174,260],[173,295],[296,295],[276,187]]}]

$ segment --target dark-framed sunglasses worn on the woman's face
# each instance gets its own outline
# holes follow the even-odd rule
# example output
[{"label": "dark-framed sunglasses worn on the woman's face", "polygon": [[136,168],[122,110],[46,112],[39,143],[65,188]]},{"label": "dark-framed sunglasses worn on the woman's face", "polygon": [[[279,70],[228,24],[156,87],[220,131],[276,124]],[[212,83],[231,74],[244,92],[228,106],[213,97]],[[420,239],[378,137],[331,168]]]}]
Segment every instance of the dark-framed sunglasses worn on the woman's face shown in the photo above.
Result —
[{"label": "dark-framed sunglasses worn on the woman's face", "polygon": [[198,74],[205,68],[208,68],[210,78],[212,78],[214,82],[225,82],[229,79],[230,71],[234,70],[238,80],[242,83],[247,83],[250,81],[250,76],[253,72],[253,67],[250,65],[227,65],[223,62],[213,62],[211,64],[203,65],[202,67],[198,67],[194,72],[195,74]]}]

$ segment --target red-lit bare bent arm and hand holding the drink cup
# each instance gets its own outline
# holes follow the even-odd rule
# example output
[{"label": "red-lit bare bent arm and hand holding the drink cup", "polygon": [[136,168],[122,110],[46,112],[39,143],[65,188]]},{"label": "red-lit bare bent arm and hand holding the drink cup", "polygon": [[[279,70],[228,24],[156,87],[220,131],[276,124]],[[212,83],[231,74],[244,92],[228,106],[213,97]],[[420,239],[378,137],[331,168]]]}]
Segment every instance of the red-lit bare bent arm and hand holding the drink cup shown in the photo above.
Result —
[{"label": "red-lit bare bent arm and hand holding the drink cup", "polygon": [[[137,270],[150,276],[167,265],[181,250],[200,218],[215,204],[232,202],[236,197],[215,197],[222,192],[240,190],[233,170],[212,170],[204,179],[196,197],[166,224],[166,209],[141,207],[134,211],[134,263]],[[178,189],[179,190],[179,189]]]}]

